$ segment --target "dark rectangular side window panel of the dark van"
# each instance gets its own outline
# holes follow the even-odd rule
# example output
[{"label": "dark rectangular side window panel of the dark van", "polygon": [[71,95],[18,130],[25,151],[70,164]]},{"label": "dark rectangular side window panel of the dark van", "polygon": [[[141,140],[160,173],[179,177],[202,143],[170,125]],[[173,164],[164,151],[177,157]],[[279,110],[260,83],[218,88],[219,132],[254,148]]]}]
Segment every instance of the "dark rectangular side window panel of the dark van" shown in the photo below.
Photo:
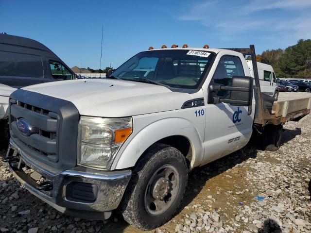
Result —
[{"label": "dark rectangular side window panel of the dark van", "polygon": [[0,51],[0,76],[42,78],[41,57],[33,54]]}]

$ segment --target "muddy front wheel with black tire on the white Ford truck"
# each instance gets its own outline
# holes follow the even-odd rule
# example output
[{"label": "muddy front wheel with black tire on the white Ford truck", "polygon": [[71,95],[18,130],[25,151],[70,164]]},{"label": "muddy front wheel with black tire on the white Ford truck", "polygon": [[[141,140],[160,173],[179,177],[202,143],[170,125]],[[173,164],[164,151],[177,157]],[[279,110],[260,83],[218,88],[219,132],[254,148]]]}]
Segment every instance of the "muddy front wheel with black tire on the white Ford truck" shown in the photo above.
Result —
[{"label": "muddy front wheel with black tire on the white Ford truck", "polygon": [[138,161],[122,200],[122,215],[140,230],[152,230],[170,220],[188,181],[185,156],[166,144],[151,146]]}]

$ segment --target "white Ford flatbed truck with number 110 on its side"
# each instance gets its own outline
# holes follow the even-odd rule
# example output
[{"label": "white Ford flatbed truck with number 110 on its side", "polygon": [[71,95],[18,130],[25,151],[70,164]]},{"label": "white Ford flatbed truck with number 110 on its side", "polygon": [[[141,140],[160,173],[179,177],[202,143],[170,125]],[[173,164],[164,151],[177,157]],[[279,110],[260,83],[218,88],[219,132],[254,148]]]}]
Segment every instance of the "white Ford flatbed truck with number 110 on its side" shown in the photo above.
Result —
[{"label": "white Ford flatbed truck with number 110 on its side", "polygon": [[253,131],[276,150],[282,124],[310,113],[311,98],[267,107],[247,54],[256,61],[254,46],[150,47],[107,79],[21,88],[10,97],[5,161],[63,213],[105,219],[119,209],[154,229],[176,212],[191,169],[241,149]]}]

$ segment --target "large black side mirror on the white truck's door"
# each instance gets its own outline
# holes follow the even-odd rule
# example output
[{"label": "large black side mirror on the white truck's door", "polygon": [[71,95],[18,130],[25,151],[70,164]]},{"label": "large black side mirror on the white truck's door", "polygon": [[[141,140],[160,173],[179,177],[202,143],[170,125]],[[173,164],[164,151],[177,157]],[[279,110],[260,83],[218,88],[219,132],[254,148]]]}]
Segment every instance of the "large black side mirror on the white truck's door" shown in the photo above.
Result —
[{"label": "large black side mirror on the white truck's door", "polygon": [[[230,94],[214,97],[213,92],[226,90]],[[233,76],[231,86],[210,85],[208,103],[230,103],[235,106],[250,106],[253,100],[253,78],[247,76]]]}]

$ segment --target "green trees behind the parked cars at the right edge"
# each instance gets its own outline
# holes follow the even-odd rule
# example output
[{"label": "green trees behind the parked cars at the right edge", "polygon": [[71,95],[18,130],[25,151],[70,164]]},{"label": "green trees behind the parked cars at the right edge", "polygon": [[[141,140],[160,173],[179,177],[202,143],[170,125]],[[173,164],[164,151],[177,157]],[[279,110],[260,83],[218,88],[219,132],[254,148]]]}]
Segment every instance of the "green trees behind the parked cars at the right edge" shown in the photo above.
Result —
[{"label": "green trees behind the parked cars at the right edge", "polygon": [[311,78],[311,40],[298,40],[285,50],[266,50],[261,62],[271,65],[280,78]]}]

